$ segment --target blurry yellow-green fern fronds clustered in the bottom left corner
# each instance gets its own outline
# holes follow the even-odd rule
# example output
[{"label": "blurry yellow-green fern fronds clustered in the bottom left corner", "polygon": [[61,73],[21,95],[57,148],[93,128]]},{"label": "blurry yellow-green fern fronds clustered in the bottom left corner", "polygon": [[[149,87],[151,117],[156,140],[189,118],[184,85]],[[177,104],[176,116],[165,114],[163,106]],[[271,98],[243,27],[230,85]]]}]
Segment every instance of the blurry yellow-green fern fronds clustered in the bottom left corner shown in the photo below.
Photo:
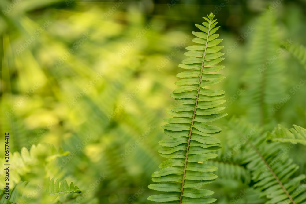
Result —
[{"label": "blurry yellow-green fern fronds clustered in the bottom left corner", "polygon": [[[4,204],[54,203],[58,196],[68,193],[81,193],[77,186],[72,182],[69,186],[65,179],[62,182],[59,182],[59,179],[54,181],[54,178],[50,180],[50,177],[44,179],[46,175],[53,174],[49,166],[55,165],[56,158],[68,154],[69,152],[63,151],[62,148],[57,150],[54,145],[44,143],[39,143],[37,146],[32,145],[30,150],[23,147],[20,153],[14,152],[9,159],[9,195],[2,191],[0,202]],[[1,164],[3,165],[3,162]],[[0,177],[2,177],[2,180],[0,185],[3,186],[2,189],[7,183],[4,176],[5,171],[1,170]]]}]

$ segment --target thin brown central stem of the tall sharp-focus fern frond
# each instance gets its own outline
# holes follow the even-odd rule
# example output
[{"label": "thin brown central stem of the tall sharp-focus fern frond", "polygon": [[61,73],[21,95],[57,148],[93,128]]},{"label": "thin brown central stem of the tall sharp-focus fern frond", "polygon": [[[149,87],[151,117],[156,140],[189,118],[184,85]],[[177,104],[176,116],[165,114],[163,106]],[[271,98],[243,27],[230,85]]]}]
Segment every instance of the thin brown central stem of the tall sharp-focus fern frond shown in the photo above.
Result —
[{"label": "thin brown central stem of the tall sharp-focus fern frond", "polygon": [[199,93],[200,93],[200,88],[201,88],[202,73],[203,73],[203,67],[204,67],[204,61],[205,61],[205,54],[206,54],[206,49],[207,49],[209,31],[210,31],[210,26],[211,26],[211,20],[212,19],[210,19],[210,22],[209,22],[209,25],[208,25],[207,39],[206,39],[206,45],[205,45],[204,54],[203,54],[200,80],[199,80],[199,86],[198,86],[198,93],[196,94],[196,104],[195,104],[193,115],[192,115],[192,121],[191,121],[191,126],[190,126],[189,137],[188,137],[188,144],[187,144],[187,151],[186,151],[185,165],[184,165],[184,172],[183,172],[183,180],[182,180],[182,187],[181,187],[181,195],[180,195],[180,204],[182,203],[182,195],[183,195],[183,188],[184,188],[184,182],[185,182],[185,174],[186,174],[186,167],[187,167],[189,144],[190,144],[190,139],[191,139],[191,133],[192,133],[192,126],[193,126],[194,118],[196,116],[196,107],[198,105],[198,98],[199,98]]}]

